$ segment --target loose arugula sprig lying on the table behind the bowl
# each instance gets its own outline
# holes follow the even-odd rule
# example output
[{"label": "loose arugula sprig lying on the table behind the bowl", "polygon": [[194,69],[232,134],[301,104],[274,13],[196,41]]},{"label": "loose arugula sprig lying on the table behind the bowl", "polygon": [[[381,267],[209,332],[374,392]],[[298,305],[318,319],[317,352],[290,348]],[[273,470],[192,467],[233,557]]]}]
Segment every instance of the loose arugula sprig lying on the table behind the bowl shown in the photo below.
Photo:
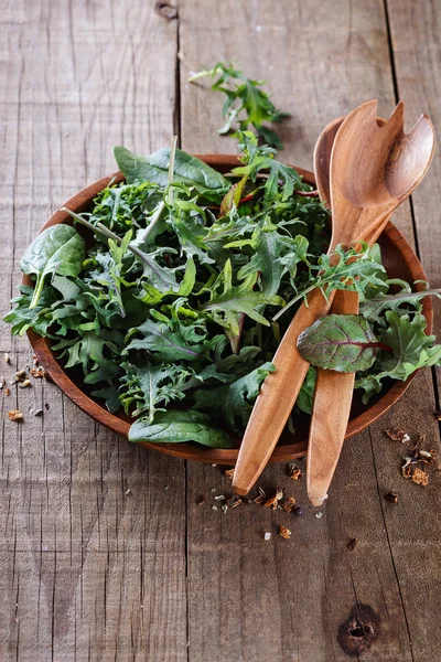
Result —
[{"label": "loose arugula sprig lying on the table behind the bowl", "polygon": [[[226,100],[223,108],[225,125],[218,129],[218,134],[228,134],[234,121],[239,124],[241,130],[248,125],[255,127],[262,139],[277,149],[282,149],[282,142],[277,134],[263,125],[265,121],[280,122],[289,113],[278,110],[270,100],[270,94],[260,89],[265,81],[252,81],[243,74],[233,64],[218,62],[211,70],[193,74],[189,82],[193,83],[204,76],[216,78],[212,89],[223,92]],[[228,84],[230,86],[228,86]]]}]

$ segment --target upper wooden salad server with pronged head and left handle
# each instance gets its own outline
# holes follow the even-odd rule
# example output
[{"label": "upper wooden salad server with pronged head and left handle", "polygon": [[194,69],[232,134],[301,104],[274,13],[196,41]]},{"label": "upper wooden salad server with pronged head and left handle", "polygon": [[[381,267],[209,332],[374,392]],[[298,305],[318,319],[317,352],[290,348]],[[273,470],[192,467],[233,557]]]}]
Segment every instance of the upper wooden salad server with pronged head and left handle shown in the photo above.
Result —
[{"label": "upper wooden salad server with pronged head and left handle", "polygon": [[[338,244],[349,246],[377,231],[379,223],[421,181],[433,153],[433,127],[422,116],[410,134],[404,132],[404,104],[379,127],[377,102],[367,102],[342,122],[331,157],[332,237],[329,254]],[[280,437],[295,403],[309,363],[298,350],[299,334],[327,313],[327,300],[320,290],[308,296],[292,319],[275,354],[276,372],[265,380],[254,406],[233,479],[238,494],[246,494]]]}]

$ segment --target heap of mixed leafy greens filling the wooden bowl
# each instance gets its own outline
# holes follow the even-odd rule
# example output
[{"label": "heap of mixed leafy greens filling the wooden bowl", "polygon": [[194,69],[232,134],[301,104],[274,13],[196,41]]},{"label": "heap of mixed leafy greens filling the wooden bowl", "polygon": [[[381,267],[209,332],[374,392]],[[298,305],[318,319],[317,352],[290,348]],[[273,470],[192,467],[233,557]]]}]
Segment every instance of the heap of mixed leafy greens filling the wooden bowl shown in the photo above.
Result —
[{"label": "heap of mixed leafy greens filling the wooden bowl", "polygon": [[[241,164],[224,177],[181,150],[141,158],[117,147],[126,181],[101,191],[90,213],[69,212],[77,228],[50,227],[23,255],[35,287],[20,287],[6,321],[13,333],[49,337],[94,396],[133,416],[133,441],[228,447],[219,424],[244,429],[295,306],[314,287],[361,296],[361,318],[318,322],[302,351],[322,367],[359,369],[366,398],[385,378],[441,359],[424,334],[426,292],[388,281],[378,247],[338,247],[330,260],[329,212],[311,186],[252,134],[240,134],[239,149]],[[342,335],[352,346],[335,353]],[[295,410],[311,410],[314,383],[311,367]]]}]

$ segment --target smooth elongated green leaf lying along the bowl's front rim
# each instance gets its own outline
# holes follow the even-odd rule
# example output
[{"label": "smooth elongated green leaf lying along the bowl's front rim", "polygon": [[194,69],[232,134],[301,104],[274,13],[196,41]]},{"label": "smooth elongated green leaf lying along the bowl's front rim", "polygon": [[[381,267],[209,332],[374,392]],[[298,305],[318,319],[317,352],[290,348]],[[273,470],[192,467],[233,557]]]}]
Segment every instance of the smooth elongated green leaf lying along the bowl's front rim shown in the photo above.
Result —
[{"label": "smooth elongated green leaf lying along the bowl's front rim", "polygon": [[154,423],[139,418],[129,429],[129,441],[149,441],[164,444],[182,444],[196,441],[211,448],[230,448],[228,436],[215,428],[208,416],[195,412],[158,412]]}]

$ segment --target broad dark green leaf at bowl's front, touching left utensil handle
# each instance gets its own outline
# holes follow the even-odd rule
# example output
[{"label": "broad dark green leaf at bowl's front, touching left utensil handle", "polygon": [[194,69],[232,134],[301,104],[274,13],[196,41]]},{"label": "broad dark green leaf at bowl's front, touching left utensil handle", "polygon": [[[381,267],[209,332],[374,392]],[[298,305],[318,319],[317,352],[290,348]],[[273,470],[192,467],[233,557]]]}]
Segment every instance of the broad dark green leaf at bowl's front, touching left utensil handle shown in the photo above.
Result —
[{"label": "broad dark green leaf at bowl's front, touching left utensil handle", "polygon": [[201,388],[194,394],[194,407],[207,412],[215,420],[226,421],[234,430],[241,431],[248,423],[260,384],[275,370],[271,363],[263,363],[232,384]]}]

